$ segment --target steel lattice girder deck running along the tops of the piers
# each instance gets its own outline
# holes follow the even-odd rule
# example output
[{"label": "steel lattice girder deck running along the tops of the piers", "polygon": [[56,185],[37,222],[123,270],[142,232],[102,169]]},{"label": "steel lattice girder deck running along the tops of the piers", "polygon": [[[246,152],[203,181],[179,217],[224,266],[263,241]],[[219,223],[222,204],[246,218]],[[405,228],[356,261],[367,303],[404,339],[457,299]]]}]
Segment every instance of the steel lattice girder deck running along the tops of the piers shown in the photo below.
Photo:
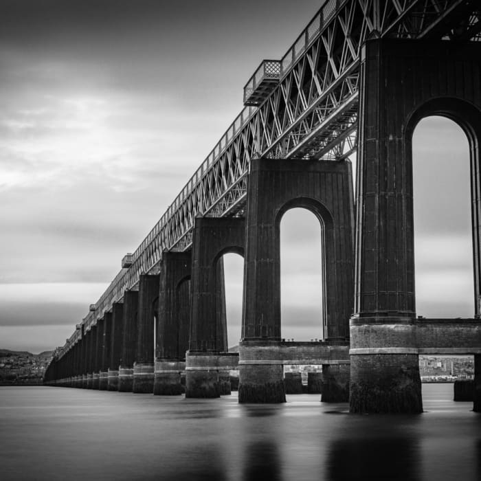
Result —
[{"label": "steel lattice girder deck running along the tops of the piers", "polygon": [[[342,159],[357,147],[359,54],[370,36],[480,39],[478,0],[329,0],[281,60],[278,85],[245,109],[83,320],[95,324],[164,250],[192,243],[196,216],[243,214],[250,159]],[[295,60],[294,60],[295,59]],[[78,331],[69,339],[75,342]],[[65,348],[61,352],[65,352]]]}]

